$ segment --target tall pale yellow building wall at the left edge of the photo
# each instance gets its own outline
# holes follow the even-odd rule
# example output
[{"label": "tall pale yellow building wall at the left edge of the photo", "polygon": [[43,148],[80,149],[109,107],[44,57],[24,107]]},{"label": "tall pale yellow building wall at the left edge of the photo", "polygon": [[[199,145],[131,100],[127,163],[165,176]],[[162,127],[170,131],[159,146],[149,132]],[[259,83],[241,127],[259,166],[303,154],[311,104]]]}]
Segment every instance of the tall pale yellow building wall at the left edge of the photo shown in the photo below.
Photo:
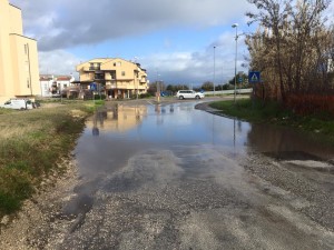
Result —
[{"label": "tall pale yellow building wall at the left edge of the photo", "polygon": [[0,0],[0,102],[40,92],[37,41],[23,36],[21,10]]}]

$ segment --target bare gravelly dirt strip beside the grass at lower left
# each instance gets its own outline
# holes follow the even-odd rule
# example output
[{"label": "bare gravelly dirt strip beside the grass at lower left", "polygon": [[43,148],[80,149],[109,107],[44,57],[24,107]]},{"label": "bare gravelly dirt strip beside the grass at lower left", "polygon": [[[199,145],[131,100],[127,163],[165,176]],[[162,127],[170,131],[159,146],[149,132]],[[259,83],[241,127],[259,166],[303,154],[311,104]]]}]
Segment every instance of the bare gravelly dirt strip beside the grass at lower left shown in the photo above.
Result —
[{"label": "bare gravelly dirt strip beside the grass at lower left", "polygon": [[63,173],[53,173],[45,179],[38,192],[24,201],[20,212],[6,216],[0,222],[0,249],[40,249],[48,239],[33,238],[33,232],[45,228],[71,196],[77,183],[77,168],[72,160],[63,160],[59,166]]}]

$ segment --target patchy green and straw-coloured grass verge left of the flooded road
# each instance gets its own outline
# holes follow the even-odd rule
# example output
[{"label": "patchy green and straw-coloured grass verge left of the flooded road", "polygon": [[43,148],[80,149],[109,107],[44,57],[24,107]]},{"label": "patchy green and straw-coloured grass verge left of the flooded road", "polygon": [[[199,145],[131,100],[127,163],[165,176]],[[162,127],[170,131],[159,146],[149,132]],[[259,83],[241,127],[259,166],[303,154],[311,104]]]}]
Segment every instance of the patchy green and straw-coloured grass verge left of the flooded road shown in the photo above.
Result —
[{"label": "patchy green and straw-coloured grass verge left of the flooded road", "polygon": [[28,111],[0,109],[0,218],[19,210],[42,178],[57,170],[95,108],[72,101]]}]

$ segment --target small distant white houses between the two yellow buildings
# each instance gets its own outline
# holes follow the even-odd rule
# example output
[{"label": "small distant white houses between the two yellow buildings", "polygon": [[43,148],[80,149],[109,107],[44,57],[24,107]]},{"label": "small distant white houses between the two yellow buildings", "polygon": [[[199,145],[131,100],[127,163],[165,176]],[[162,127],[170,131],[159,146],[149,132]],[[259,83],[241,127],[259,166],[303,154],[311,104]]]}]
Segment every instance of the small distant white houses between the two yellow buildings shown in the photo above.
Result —
[{"label": "small distant white houses between the two yellow buildings", "polygon": [[65,94],[67,89],[73,86],[75,78],[72,76],[40,74],[39,81],[41,97],[57,97],[61,93]]}]

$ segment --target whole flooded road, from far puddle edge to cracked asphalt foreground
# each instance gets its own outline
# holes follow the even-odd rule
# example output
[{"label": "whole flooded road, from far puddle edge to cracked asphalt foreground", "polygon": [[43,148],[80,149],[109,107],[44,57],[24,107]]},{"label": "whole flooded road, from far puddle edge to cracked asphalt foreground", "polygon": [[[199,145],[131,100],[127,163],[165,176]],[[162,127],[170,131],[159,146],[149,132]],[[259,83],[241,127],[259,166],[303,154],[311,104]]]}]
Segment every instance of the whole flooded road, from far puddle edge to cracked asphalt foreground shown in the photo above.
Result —
[{"label": "whole flooded road, from far puddle edge to cracked asphalt foreground", "polygon": [[195,102],[87,122],[79,180],[38,249],[334,249],[333,148]]}]

